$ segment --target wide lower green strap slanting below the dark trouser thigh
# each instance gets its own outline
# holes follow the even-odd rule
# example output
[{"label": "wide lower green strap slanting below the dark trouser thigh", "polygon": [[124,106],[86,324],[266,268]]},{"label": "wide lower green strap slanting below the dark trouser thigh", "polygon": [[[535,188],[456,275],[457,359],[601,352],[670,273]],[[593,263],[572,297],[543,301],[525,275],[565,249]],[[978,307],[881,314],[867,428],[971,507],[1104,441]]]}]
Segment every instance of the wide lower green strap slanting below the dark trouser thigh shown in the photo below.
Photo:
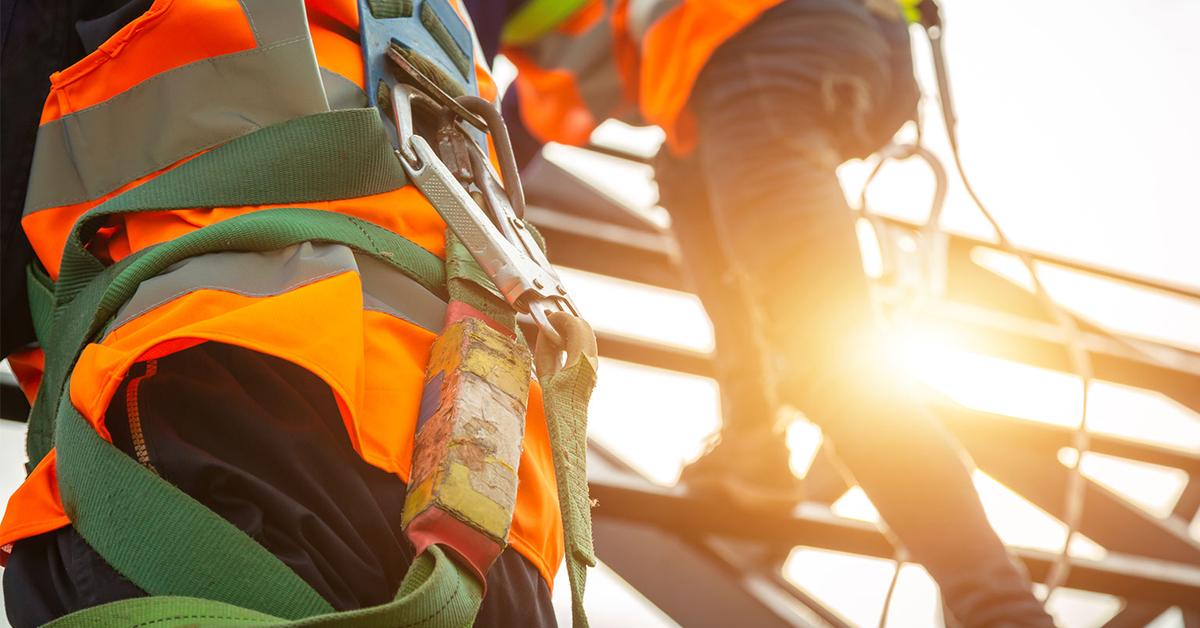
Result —
[{"label": "wide lower green strap slanting below the dark trouser thigh", "polygon": [[150,596],[216,599],[286,618],[334,609],[274,554],[59,409],[59,485],[71,524]]}]

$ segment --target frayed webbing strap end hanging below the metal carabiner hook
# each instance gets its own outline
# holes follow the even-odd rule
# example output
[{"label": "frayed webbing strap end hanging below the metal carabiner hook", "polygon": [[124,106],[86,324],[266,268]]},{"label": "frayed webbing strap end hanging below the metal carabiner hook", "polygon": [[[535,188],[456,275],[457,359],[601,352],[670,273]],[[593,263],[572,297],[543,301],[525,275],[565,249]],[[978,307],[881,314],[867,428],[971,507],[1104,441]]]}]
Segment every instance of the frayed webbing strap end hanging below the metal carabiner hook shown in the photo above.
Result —
[{"label": "frayed webbing strap end hanging below the metal carabiner hook", "polygon": [[588,497],[588,401],[595,388],[596,371],[587,359],[578,359],[560,371],[541,378],[550,431],[558,504],[563,513],[566,549],[566,578],[571,582],[571,617],[575,628],[587,628],[583,612],[583,585],[588,567],[595,567],[592,546],[592,500]]}]

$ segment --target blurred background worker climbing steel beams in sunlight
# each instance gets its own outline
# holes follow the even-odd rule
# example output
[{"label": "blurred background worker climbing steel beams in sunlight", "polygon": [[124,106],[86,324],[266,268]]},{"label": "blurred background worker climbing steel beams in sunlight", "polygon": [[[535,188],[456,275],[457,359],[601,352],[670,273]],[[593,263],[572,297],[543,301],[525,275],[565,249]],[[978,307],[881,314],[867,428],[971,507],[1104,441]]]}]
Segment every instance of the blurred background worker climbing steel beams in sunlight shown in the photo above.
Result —
[{"label": "blurred background worker climbing steel beams in sunlight", "polygon": [[527,146],[584,144],[610,116],[666,131],[661,203],[714,323],[724,406],[718,444],[680,482],[794,504],[775,420],[800,408],[962,624],[1052,624],[990,528],[965,451],[880,339],[835,175],[914,115],[902,11],[917,2],[580,5],[539,19],[547,5],[533,1],[510,18],[506,110]]}]

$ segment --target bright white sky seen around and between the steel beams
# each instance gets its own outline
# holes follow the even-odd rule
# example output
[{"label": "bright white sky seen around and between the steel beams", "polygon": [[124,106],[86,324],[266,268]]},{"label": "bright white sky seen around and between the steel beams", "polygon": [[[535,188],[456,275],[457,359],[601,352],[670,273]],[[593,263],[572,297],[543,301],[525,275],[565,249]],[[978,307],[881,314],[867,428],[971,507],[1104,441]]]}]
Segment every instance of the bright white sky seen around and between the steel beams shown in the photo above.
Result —
[{"label": "bright white sky seen around and between the steel beams", "polygon": [[[947,46],[967,169],[1020,245],[1147,277],[1200,286],[1200,4],[1190,0],[1058,0],[1034,5],[946,0]],[[917,62],[928,79],[928,55]],[[928,84],[928,80],[925,80]],[[932,92],[932,91],[930,91]],[[929,143],[946,155],[934,109],[926,115]],[[654,202],[643,169],[618,169],[604,160],[581,161],[559,149],[554,156],[582,166],[613,193],[636,205]],[[865,171],[850,165],[842,175],[854,187]],[[614,185],[619,181],[619,185]],[[886,171],[871,204],[913,220],[928,211],[930,185],[919,166]],[[856,193],[851,195],[857,196]],[[944,225],[986,237],[988,229],[961,190],[952,189]],[[983,259],[1020,277],[1012,262]],[[1122,331],[1200,347],[1200,306],[1097,285],[1048,269],[1050,289],[1069,307]],[[565,281],[596,327],[700,351],[712,348],[712,329],[689,295],[613,282],[568,271]],[[637,307],[630,304],[640,304]],[[659,312],[658,316],[647,312]],[[670,321],[670,322],[668,322]],[[962,403],[1058,425],[1079,420],[1081,387],[1070,376],[968,354],[935,336],[905,339],[914,369]],[[980,385],[986,382],[986,385]],[[593,402],[592,436],[617,450],[654,482],[671,484],[679,467],[702,450],[720,423],[712,381],[605,360]],[[1092,389],[1090,425],[1097,432],[1200,451],[1200,417],[1160,395],[1109,383]],[[1129,417],[1139,417],[1136,424]],[[0,421],[0,497],[22,477],[20,430]],[[797,423],[788,433],[793,468],[803,474],[820,432]],[[1074,451],[1060,457],[1069,462]],[[1085,473],[1147,512],[1170,512],[1184,477],[1177,469],[1090,455]],[[1057,550],[1064,526],[983,473],[977,488],[1001,537],[1015,545]],[[853,489],[835,513],[876,520],[865,495]],[[1193,533],[1200,524],[1192,525]],[[1198,534],[1200,538],[1200,534]],[[1076,539],[1080,556],[1104,549]],[[894,563],[798,548],[785,576],[826,600],[856,624],[874,626]],[[562,580],[562,579],[560,579]],[[556,587],[565,610],[566,582]],[[671,626],[640,600],[619,576],[600,568],[592,576],[588,606],[594,626]],[[936,587],[916,566],[905,566],[890,626],[936,626]],[[1067,627],[1100,626],[1120,600],[1063,591],[1051,602]],[[560,615],[566,617],[566,615]],[[2,624],[2,617],[0,617]],[[1157,628],[1182,626],[1177,612]]]}]

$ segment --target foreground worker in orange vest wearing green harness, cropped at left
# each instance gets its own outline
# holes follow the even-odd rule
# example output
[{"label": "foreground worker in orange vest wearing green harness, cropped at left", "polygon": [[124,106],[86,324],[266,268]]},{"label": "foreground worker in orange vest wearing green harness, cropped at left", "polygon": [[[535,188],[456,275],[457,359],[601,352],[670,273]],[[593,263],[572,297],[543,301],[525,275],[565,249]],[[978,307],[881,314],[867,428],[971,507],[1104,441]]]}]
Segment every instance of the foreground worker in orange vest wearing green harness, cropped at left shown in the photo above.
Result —
[{"label": "foreground worker in orange vest wearing green harness, cropped at left", "polygon": [[[414,98],[494,102],[461,7],[364,6],[372,23],[404,18],[426,46],[400,42],[420,66],[408,72],[434,85]],[[552,395],[566,373],[594,377],[594,342],[548,317],[568,355],[539,363],[544,412],[512,307],[472,275],[445,208],[418,189],[438,160],[419,172],[397,160],[390,122],[367,108],[355,1],[17,2],[5,14],[4,353],[32,402],[30,473],[0,524],[8,621],[553,626],[560,509],[580,500],[565,539],[576,598],[594,558],[586,494],[564,489],[582,453],[559,450],[582,438],[558,419],[578,420],[580,400],[560,414]],[[454,131],[470,114],[455,115],[442,139],[486,150]],[[391,128],[402,154],[421,139],[403,131]],[[470,515],[401,530],[431,512],[409,512],[414,495],[454,497],[436,478],[406,502],[425,447],[414,433],[460,399],[443,387],[454,364],[430,358],[456,324],[498,337],[487,359],[511,363],[499,384],[458,384],[485,382],[488,418],[517,420],[511,441],[475,456],[486,467],[511,454],[504,482],[470,494],[509,508],[486,510],[500,530],[487,538],[463,528],[478,530]],[[443,396],[430,403],[431,390]],[[430,455],[452,455],[444,447]],[[502,484],[511,491],[486,494]]]}]

